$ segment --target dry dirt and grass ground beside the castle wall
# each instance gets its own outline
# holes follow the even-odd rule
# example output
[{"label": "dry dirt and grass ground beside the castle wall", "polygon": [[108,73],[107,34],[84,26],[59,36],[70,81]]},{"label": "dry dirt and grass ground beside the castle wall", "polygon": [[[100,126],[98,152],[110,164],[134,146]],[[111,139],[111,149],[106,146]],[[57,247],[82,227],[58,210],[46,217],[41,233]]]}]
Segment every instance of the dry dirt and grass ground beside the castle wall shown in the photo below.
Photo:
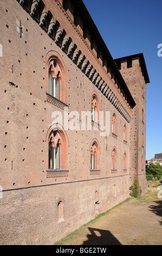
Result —
[{"label": "dry dirt and grass ground beside the castle wall", "polygon": [[162,201],[157,188],[148,189],[143,197],[126,200],[55,245],[162,245]]}]

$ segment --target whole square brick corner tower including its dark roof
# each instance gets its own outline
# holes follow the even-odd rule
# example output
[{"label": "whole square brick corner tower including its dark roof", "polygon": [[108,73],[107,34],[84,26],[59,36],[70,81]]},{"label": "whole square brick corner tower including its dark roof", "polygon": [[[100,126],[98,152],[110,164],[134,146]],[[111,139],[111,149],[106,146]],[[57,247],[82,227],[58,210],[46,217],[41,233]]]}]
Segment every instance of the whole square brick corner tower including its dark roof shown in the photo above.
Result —
[{"label": "whole square brick corner tower including its dark roof", "polygon": [[150,83],[142,53],[115,59],[122,77],[136,103],[132,112],[129,131],[130,184],[138,176],[142,194],[147,191],[146,182],[146,84]]}]

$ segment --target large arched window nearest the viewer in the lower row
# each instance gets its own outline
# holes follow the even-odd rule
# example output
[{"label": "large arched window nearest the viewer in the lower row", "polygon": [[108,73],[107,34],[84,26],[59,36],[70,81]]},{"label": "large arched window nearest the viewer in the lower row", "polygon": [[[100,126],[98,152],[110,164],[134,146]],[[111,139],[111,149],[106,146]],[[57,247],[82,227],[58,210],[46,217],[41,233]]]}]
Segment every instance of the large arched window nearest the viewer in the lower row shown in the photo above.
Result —
[{"label": "large arched window nearest the viewer in the lower row", "polygon": [[48,169],[66,169],[66,141],[67,139],[62,130],[55,129],[49,132]]}]

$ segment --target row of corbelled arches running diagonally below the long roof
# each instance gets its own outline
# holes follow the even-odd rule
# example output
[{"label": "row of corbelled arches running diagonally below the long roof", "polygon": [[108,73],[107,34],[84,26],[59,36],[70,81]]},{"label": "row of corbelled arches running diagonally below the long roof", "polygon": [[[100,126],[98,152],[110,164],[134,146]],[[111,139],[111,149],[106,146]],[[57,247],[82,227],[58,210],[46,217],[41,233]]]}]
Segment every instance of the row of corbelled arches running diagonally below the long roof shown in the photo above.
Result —
[{"label": "row of corbelled arches running diagonally below the long roof", "polygon": [[[24,0],[17,0],[23,7],[24,5]],[[70,17],[68,16],[66,10],[64,10],[64,8],[62,7],[62,5],[60,4],[60,2],[58,0],[55,0],[55,2],[57,3],[57,5],[60,7],[60,9],[62,10],[62,12],[64,13],[64,15],[66,15],[68,21],[71,23],[71,25],[73,26],[73,28],[75,29],[75,31],[77,32],[77,34],[80,36],[81,40],[84,42],[84,44],[87,46],[88,50],[90,51],[90,53],[93,55],[93,57],[95,58],[96,62],[99,64],[100,68],[102,69],[102,71],[105,72],[105,74],[107,75],[107,78],[109,80],[109,82],[111,82],[114,86],[114,83],[112,82],[111,78],[108,76],[106,70],[103,68],[102,64],[99,62],[99,59],[95,56],[94,52],[91,50],[91,48],[89,47],[89,45],[87,44],[87,42],[85,41],[85,39],[83,38],[83,36],[81,35],[81,33],[78,31],[78,29],[76,28],[76,26],[74,25],[73,21],[70,19]],[[34,19],[34,14],[38,8],[40,1],[39,0],[33,0],[33,3],[31,4],[31,10],[30,10],[30,16],[33,17]],[[48,11],[46,10],[46,6],[44,7],[42,14],[40,15],[40,23],[39,25],[41,26],[41,28],[43,28],[43,23],[44,21],[47,19],[48,16]],[[59,23],[59,22],[58,22]],[[47,34],[50,36],[51,33],[54,31],[56,26],[56,21],[53,17],[53,19],[51,19],[50,23],[49,23],[49,27],[47,29]],[[64,51],[64,48],[67,46],[68,41],[70,39],[70,37],[68,37],[68,35],[66,34],[61,42],[61,45],[59,44],[59,41],[61,39],[61,36],[63,34],[63,30],[58,28],[56,33],[55,33],[55,43],[57,44],[57,46],[60,46],[62,51]],[[75,50],[76,48],[76,50]],[[64,51],[66,52],[66,51]],[[89,78],[90,81],[92,81],[94,83],[94,85],[96,86],[96,88],[98,88],[101,93],[103,95],[105,95],[107,97],[107,99],[113,104],[113,106],[118,110],[118,112],[127,120],[127,122],[129,123],[131,121],[131,112],[128,113],[126,111],[126,108],[124,106],[121,105],[120,99],[118,99],[117,95],[115,95],[116,93],[114,93],[117,89],[114,86],[114,92],[112,92],[112,90],[110,89],[110,91],[108,90],[109,87],[107,86],[107,84],[105,83],[105,81],[102,80],[102,77],[99,75],[98,71],[93,69],[93,64],[90,63],[89,59],[86,58],[86,56],[82,56],[81,55],[81,50],[77,49],[77,46],[75,45],[75,43],[70,42],[69,46],[68,46],[68,51],[67,51],[67,56],[72,59],[72,61],[77,65],[78,68],[81,69],[81,71]],[[48,59],[48,54],[46,56],[46,63],[47,63],[47,59]],[[79,56],[80,55],[80,56]],[[59,61],[59,60],[58,60]],[[61,62],[61,65],[63,62]],[[64,67],[63,67],[64,68]],[[65,72],[66,69],[64,68]],[[120,95],[121,97],[121,95]],[[124,100],[124,99],[123,99]],[[118,102],[117,104],[115,102]],[[128,103],[125,102],[126,105],[128,105]],[[128,107],[130,109],[130,107]]]}]

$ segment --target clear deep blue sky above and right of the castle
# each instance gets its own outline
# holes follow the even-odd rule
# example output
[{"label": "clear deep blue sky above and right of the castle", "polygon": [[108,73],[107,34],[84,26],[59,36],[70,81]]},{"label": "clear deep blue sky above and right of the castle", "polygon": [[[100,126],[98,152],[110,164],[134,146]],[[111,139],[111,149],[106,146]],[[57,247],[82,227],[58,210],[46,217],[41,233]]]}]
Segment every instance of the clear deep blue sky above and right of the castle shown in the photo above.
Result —
[{"label": "clear deep blue sky above and right of the castle", "polygon": [[158,57],[162,49],[158,48],[162,46],[162,1],[83,2],[114,59],[144,53],[150,78],[146,86],[146,159],[151,159],[162,153],[162,57]]}]

